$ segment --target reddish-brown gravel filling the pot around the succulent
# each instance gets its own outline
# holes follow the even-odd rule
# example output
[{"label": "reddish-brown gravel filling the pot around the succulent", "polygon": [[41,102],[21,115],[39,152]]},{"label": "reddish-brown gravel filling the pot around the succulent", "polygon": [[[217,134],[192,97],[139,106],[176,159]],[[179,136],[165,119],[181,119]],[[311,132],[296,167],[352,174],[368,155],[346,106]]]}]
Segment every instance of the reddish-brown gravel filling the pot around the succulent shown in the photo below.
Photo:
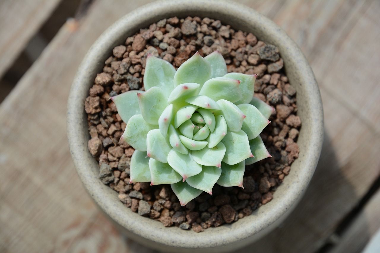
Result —
[{"label": "reddish-brown gravel filling the pot around the succulent", "polygon": [[[203,192],[182,207],[170,185],[128,184],[134,149],[119,141],[126,124],[109,97],[128,90],[144,90],[142,77],[148,52],[178,68],[196,51],[206,56],[215,50],[225,58],[228,72],[258,74],[254,96],[276,109],[269,119],[272,123],[261,133],[272,157],[246,167],[244,189],[215,184],[212,196]],[[276,46],[218,20],[172,17],[141,29],[110,55],[84,105],[91,136],[88,148],[99,161],[100,180],[119,193],[126,207],[164,226],[201,232],[237,221],[272,200],[298,157],[296,141],[301,127],[296,90],[288,83]]]}]

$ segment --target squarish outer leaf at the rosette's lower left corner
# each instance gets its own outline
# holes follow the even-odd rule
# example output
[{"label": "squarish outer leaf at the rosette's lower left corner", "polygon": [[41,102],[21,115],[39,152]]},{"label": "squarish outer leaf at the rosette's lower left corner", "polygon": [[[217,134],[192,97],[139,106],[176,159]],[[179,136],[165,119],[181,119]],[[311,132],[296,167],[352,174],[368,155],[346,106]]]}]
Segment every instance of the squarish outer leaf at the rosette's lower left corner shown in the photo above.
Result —
[{"label": "squarish outer leaf at the rosette's lower left corner", "polygon": [[130,183],[150,182],[149,157],[146,152],[135,150],[131,157]]}]

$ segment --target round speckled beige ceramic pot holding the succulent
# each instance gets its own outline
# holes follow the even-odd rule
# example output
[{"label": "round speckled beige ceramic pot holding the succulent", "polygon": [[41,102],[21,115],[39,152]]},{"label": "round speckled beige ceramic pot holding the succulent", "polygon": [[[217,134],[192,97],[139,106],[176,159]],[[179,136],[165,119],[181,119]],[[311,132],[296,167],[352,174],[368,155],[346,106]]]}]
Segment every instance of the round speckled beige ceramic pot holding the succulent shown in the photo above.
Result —
[{"label": "round speckled beige ceramic pot holding the succulent", "polygon": [[[128,11],[128,10],[126,10]],[[172,16],[219,19],[224,24],[252,32],[260,40],[279,47],[290,84],[297,90],[298,115],[302,120],[299,158],[274,193],[274,199],[248,217],[231,225],[195,233],[141,217],[123,206],[117,193],[98,179],[99,166],[87,149],[89,133],[84,100],[112,48],[148,27]],[[93,44],[79,66],[68,98],[67,131],[74,165],[84,186],[98,206],[128,237],[148,247],[173,252],[225,252],[241,248],[263,237],[287,217],[304,193],[315,171],[323,141],[323,111],[313,72],[298,46],[274,22],[256,11],[233,2],[160,1],[128,13],[109,27]]]}]

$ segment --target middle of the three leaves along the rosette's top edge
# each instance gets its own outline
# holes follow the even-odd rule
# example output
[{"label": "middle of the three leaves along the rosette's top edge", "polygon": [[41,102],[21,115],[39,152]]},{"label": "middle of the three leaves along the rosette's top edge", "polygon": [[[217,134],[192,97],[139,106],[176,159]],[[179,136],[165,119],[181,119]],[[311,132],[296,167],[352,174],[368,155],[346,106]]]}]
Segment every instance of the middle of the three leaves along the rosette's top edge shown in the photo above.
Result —
[{"label": "middle of the three leaves along the rosette's top edge", "polygon": [[174,75],[174,86],[195,82],[202,85],[210,79],[211,66],[198,52],[179,66]]}]

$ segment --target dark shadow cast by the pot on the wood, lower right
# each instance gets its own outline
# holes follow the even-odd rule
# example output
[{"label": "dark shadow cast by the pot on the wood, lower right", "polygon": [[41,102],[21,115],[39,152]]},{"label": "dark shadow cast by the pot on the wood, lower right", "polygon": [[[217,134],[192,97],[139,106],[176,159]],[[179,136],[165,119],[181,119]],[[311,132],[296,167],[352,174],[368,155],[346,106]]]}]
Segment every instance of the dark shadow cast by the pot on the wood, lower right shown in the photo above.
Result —
[{"label": "dark shadow cast by the pot on the wood, lower right", "polygon": [[326,131],[324,136],[317,169],[293,212],[269,234],[234,253],[253,252],[253,249],[255,252],[326,252],[334,244],[335,232],[341,234],[345,224],[340,222],[346,221],[344,218],[350,212],[348,202],[357,204],[358,196],[344,175],[349,165],[340,167]]}]

